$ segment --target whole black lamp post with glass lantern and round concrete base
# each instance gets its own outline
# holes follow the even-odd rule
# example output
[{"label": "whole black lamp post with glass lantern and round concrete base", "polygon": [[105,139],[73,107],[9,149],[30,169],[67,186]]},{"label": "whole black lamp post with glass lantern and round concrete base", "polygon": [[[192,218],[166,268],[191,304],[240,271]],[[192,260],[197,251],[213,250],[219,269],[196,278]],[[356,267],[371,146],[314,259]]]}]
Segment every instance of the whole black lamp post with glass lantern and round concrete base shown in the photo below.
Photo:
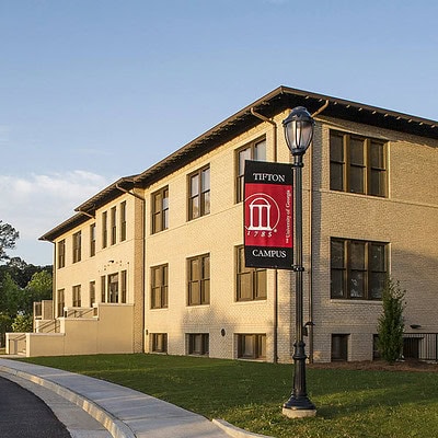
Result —
[{"label": "whole black lamp post with glass lantern and round concrete base", "polygon": [[314,404],[309,400],[306,388],[306,350],[302,292],[302,157],[313,137],[314,120],[303,106],[297,106],[283,122],[288,148],[293,155],[295,186],[295,246],[296,264],[296,342],[293,344],[293,389],[290,399],[283,405],[283,414],[290,418],[316,415]]}]

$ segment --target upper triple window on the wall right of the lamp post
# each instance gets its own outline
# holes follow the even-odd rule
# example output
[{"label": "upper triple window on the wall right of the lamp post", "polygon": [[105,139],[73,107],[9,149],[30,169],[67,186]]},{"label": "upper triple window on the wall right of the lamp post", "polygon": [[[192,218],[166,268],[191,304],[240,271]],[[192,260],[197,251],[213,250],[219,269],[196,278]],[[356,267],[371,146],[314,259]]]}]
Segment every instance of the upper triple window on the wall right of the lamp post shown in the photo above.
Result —
[{"label": "upper triple window on the wall right of the lamp post", "polygon": [[384,197],[387,186],[387,143],[331,130],[330,188]]}]

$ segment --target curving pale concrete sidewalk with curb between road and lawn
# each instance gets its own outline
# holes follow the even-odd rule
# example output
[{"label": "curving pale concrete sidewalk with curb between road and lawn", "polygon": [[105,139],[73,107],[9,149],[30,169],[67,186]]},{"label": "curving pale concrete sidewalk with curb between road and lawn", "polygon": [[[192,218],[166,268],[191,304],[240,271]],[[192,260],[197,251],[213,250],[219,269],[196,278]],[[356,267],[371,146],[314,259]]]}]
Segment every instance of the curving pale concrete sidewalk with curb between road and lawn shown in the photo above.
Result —
[{"label": "curving pale concrete sidewalk with curb between road and lawn", "polygon": [[27,385],[41,399],[46,397],[62,423],[73,423],[70,427],[66,424],[73,438],[263,437],[223,420],[209,422],[171,403],[87,376],[3,358],[0,358],[0,372]]}]

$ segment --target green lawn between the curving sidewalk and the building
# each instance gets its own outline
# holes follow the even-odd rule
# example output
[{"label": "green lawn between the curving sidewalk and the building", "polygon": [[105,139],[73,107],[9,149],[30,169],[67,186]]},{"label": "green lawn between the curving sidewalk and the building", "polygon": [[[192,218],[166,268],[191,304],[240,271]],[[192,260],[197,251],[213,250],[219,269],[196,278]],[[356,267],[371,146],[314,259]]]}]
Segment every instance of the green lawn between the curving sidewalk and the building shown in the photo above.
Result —
[{"label": "green lawn between the curving sidewalk and the building", "polygon": [[313,418],[281,414],[292,366],[160,355],[25,359],[108,380],[278,438],[438,436],[438,373],[308,368]]}]

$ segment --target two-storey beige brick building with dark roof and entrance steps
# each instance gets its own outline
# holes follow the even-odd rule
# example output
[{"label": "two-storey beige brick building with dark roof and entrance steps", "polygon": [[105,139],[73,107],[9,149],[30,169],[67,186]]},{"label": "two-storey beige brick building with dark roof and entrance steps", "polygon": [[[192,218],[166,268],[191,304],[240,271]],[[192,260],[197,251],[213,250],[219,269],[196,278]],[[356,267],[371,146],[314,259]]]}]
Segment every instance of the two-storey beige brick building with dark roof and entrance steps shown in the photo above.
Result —
[{"label": "two-storey beige brick building with dark roof and entrance steps", "polygon": [[54,300],[9,350],[289,361],[293,273],[244,266],[242,172],[245,159],[291,162],[281,122],[296,106],[316,113],[303,168],[307,353],[372,359],[391,275],[419,355],[438,333],[438,123],[285,87],[47,232]]}]

